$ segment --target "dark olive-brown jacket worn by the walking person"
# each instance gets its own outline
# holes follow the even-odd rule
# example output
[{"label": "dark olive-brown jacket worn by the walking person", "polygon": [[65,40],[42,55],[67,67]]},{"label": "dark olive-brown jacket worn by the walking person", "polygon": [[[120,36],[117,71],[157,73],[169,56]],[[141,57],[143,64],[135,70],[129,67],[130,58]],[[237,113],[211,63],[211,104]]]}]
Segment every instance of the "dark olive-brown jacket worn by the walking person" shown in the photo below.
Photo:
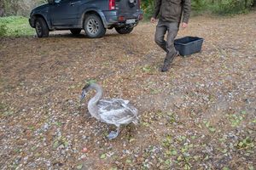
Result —
[{"label": "dark olive-brown jacket worn by the walking person", "polygon": [[189,22],[191,11],[190,0],[156,0],[154,15],[160,15],[160,20],[169,22],[180,22],[183,14],[182,22]]}]

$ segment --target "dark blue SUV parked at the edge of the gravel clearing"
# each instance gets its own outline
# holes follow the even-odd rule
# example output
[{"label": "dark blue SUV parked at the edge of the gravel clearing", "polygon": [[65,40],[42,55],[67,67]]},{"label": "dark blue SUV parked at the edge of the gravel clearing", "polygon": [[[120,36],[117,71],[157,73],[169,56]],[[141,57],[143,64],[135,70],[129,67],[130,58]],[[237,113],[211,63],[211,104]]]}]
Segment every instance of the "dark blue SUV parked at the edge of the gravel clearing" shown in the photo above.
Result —
[{"label": "dark blue SUV parked at the edge of the gravel clearing", "polygon": [[128,34],[142,19],[140,0],[48,0],[32,9],[29,23],[38,37],[48,37],[55,30],[76,35],[84,29],[95,38],[104,36],[107,28]]}]

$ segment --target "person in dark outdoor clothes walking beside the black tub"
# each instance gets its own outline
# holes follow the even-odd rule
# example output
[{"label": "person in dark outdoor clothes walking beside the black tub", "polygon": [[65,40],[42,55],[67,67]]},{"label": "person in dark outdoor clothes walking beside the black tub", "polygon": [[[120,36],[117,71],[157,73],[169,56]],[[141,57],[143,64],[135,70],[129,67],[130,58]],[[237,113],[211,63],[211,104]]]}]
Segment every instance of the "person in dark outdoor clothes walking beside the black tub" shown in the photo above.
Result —
[{"label": "person in dark outdoor clothes walking beside the black tub", "polygon": [[[156,17],[160,16],[154,34],[154,41],[166,51],[166,59],[161,71],[168,71],[172,60],[178,55],[174,48],[174,38],[177,36],[181,21],[183,28],[188,26],[190,11],[190,0],[156,0],[155,2],[151,22],[154,23]],[[165,40],[166,32],[168,33]]]}]

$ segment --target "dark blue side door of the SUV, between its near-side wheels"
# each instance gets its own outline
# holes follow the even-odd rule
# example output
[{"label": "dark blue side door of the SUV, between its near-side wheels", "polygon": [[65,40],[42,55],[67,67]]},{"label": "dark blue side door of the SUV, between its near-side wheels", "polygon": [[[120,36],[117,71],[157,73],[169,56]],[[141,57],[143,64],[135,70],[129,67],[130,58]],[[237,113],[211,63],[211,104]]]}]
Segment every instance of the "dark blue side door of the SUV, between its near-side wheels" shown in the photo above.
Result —
[{"label": "dark blue side door of the SUV, between its near-side wheels", "polygon": [[55,0],[49,8],[53,26],[73,26],[79,23],[81,0]]}]

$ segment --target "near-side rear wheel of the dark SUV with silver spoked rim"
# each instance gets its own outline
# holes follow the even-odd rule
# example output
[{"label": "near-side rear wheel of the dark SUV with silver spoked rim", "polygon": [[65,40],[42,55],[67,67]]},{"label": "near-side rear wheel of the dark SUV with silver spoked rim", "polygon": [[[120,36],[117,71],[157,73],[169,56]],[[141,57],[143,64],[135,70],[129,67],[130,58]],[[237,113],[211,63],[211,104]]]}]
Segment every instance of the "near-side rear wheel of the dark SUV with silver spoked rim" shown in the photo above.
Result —
[{"label": "near-side rear wheel of the dark SUV with silver spoked rim", "polygon": [[85,34],[90,38],[103,37],[106,28],[103,26],[102,19],[96,14],[89,14],[84,20]]}]

